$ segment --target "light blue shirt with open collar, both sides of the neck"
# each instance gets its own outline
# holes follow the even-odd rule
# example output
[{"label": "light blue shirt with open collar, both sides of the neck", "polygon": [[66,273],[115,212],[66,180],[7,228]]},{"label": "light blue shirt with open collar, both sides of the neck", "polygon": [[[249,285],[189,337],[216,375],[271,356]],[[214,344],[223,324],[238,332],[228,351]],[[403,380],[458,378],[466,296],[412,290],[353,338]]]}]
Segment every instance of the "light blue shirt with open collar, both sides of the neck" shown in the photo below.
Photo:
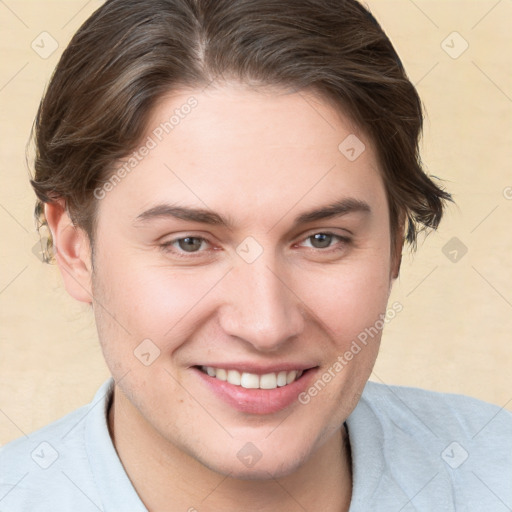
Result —
[{"label": "light blue shirt with open collar, both sides of the neck", "polygon": [[[147,512],[109,436],[112,390],[0,449],[0,512]],[[369,382],[347,426],[350,512],[512,510],[510,412]]]}]

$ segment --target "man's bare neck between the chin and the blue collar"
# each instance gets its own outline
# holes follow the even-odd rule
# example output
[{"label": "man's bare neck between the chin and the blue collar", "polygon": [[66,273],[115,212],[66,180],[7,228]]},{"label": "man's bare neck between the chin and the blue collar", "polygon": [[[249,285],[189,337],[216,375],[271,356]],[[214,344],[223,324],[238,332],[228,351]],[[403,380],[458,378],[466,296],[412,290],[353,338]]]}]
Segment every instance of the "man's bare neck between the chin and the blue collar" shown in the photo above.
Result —
[{"label": "man's bare neck between the chin and the blue collar", "polygon": [[[344,427],[293,473],[242,480],[210,470],[148,428],[118,388],[109,430],[133,486],[150,512],[346,512],[352,494],[350,444]],[[133,440],[137,439],[137,443]]]}]

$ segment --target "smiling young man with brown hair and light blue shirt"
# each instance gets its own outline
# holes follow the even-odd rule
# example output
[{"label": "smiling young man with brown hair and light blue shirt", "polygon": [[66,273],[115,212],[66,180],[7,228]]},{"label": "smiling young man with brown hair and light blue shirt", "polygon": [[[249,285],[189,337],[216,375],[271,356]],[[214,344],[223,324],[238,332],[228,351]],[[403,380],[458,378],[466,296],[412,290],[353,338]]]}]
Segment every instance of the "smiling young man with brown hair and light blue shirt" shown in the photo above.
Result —
[{"label": "smiling young man with brown hair and light blue shirt", "polygon": [[101,7],[32,184],[112,379],[0,451],[0,510],[506,510],[509,413],[367,383],[449,199],[421,124],[355,1]]}]

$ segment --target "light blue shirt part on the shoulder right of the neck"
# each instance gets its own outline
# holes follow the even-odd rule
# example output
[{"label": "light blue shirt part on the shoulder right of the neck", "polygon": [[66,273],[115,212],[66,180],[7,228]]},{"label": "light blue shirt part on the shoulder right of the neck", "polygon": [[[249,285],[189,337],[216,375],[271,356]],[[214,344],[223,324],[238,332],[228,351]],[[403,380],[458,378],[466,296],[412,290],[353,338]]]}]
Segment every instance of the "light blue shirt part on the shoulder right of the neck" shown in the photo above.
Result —
[{"label": "light blue shirt part on the shoulder right of the neck", "polygon": [[347,425],[361,510],[371,500],[404,511],[512,504],[512,414],[502,407],[368,382]]}]

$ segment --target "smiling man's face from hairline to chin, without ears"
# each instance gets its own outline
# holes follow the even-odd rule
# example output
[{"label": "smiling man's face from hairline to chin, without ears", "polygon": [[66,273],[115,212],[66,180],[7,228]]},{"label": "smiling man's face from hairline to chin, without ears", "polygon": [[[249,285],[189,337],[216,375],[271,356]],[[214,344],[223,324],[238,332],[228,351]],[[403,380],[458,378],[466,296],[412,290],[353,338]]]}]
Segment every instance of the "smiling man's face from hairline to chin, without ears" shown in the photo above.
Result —
[{"label": "smiling man's face from hairline to chin, without ears", "polygon": [[377,356],[379,335],[353,344],[393,275],[372,144],[311,94],[225,85],[163,98],[135,158],[95,235],[116,400],[208,468],[288,474],[340,429]]}]

